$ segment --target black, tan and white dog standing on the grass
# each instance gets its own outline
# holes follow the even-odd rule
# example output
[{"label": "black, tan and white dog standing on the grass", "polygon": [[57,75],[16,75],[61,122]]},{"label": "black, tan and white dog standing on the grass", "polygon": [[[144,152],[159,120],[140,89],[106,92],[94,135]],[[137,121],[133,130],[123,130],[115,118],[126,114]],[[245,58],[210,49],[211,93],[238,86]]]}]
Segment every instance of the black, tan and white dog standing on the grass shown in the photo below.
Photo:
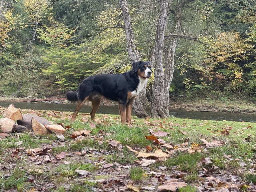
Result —
[{"label": "black, tan and white dog standing on the grass", "polygon": [[77,108],[71,121],[86,101],[92,102],[91,120],[95,118],[101,102],[101,96],[117,101],[121,116],[121,123],[131,124],[132,103],[151,77],[152,70],[149,62],[138,61],[132,63],[132,69],[122,74],[99,74],[87,77],[80,83],[77,91],[68,91],[67,99],[77,101]]}]

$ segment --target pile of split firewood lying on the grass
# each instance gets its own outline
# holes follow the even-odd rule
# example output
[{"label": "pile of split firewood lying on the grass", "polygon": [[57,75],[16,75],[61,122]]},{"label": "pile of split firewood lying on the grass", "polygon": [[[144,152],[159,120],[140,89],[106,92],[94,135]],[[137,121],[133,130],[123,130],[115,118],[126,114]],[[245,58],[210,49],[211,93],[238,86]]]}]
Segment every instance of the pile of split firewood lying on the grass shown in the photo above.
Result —
[{"label": "pile of split firewood lying on the grass", "polygon": [[37,115],[22,115],[12,104],[5,110],[3,117],[0,119],[0,132],[3,133],[33,132],[35,135],[47,135],[50,133],[60,135],[66,131],[61,125],[52,124]]}]

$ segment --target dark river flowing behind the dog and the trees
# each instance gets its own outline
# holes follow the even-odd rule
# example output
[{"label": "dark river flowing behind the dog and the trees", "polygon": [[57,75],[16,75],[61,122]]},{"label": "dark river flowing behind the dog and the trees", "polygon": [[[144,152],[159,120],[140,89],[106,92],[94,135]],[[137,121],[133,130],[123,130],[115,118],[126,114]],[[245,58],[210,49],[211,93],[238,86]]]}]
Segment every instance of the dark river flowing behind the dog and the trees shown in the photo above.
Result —
[{"label": "dark river flowing behind the dog and the trees", "polygon": [[[50,104],[50,103],[29,103],[29,102],[5,102],[0,101],[0,106],[8,107],[13,104],[14,107],[19,109],[34,109],[34,110],[50,110],[50,111],[73,111],[76,108],[76,104]],[[81,113],[90,113],[91,107],[84,105]],[[105,106],[101,105],[98,114],[119,114],[117,106]],[[134,114],[133,114],[134,115]],[[170,110],[170,115],[178,118],[199,119],[199,120],[227,120],[227,121],[245,121],[256,122],[256,114],[244,114],[244,113],[223,113],[223,112],[200,112],[200,111],[185,111],[185,110]]]}]

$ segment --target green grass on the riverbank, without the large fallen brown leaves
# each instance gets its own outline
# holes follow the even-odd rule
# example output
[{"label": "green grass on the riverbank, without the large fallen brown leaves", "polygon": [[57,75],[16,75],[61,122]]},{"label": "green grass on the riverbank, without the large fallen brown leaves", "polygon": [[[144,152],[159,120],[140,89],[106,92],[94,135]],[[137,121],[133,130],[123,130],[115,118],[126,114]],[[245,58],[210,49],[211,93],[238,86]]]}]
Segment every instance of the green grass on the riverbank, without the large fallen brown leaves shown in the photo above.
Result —
[{"label": "green grass on the riverbank, without the large fallen brown leaves", "polygon": [[[66,113],[66,112],[65,112]],[[60,115],[61,117],[65,117]],[[66,113],[69,114],[70,113]],[[96,118],[101,118],[102,115],[97,114]],[[119,119],[115,119],[119,116],[109,116],[101,124],[96,124],[96,127],[87,122],[87,119],[83,118],[82,114],[79,114],[78,119],[75,122],[70,122],[69,119],[56,118],[49,116],[48,119],[52,122],[59,122],[63,125],[70,125],[71,128],[67,130],[65,134],[65,141],[59,141],[54,135],[33,138],[29,134],[10,135],[7,138],[0,139],[0,163],[2,167],[7,167],[9,164],[19,167],[21,172],[13,169],[8,177],[0,176],[0,188],[5,190],[15,188],[16,191],[28,190],[30,183],[26,182],[28,175],[33,175],[36,182],[44,183],[47,181],[50,185],[54,186],[51,191],[54,192],[70,192],[81,191],[91,192],[97,191],[100,184],[93,182],[97,177],[102,179],[99,173],[107,171],[108,178],[118,175],[126,175],[127,182],[133,182],[140,185],[148,185],[149,177],[154,180],[154,175],[146,176],[146,172],[154,171],[156,173],[164,172],[166,175],[172,175],[174,172],[184,173],[182,178],[189,186],[179,189],[183,192],[193,192],[196,190],[195,186],[202,179],[202,171],[210,169],[212,166],[219,167],[219,172],[214,172],[218,177],[221,177],[219,173],[225,171],[228,175],[235,175],[237,178],[243,178],[243,181],[247,181],[247,185],[250,183],[256,183],[256,176],[249,172],[249,169],[254,168],[252,163],[255,161],[255,149],[256,137],[255,128],[256,123],[247,122],[230,122],[230,121],[201,121],[179,118],[166,118],[166,119],[138,119],[134,118],[133,127],[121,125]],[[86,117],[87,118],[87,117]],[[103,118],[102,118],[103,120]],[[84,122],[85,121],[85,122]],[[75,141],[71,138],[74,131],[78,130],[91,130],[90,136],[80,141]],[[193,143],[203,145],[200,139],[206,139],[208,142],[212,142],[213,136],[217,141],[224,141],[222,146],[203,147],[204,152],[195,152],[189,154],[185,151],[176,151],[171,154],[169,158],[162,161],[157,161],[151,164],[149,167],[142,168],[136,158],[137,154],[128,150],[125,145],[139,152],[153,153],[156,149],[161,149],[160,145],[154,144],[149,141],[145,136],[149,136],[149,129],[157,132],[158,130],[166,132],[166,137],[159,136],[159,139],[163,139],[165,143],[171,143],[175,148],[178,145],[184,144],[187,141],[187,145],[184,148],[188,149]],[[229,135],[223,135],[221,131],[224,129],[229,130]],[[250,138],[246,139],[250,134]],[[109,144],[110,140],[119,141],[122,145],[121,151]],[[22,141],[21,145],[18,145],[18,141]],[[55,157],[60,152],[66,152],[72,154],[66,156],[66,159],[61,160],[59,163],[42,163],[35,165],[35,162],[30,161],[30,157],[26,155],[25,149],[32,148],[44,148],[46,145],[52,145],[53,147],[48,151],[49,156]],[[145,147],[150,145],[153,151],[147,151]],[[12,151],[19,149],[18,155],[22,158],[12,157]],[[93,149],[93,150],[92,150]],[[85,150],[88,153],[84,156],[78,154]],[[163,152],[167,151],[167,148],[163,148]],[[42,156],[41,156],[42,157]],[[212,161],[209,165],[200,165],[198,163],[205,157],[209,157]],[[229,157],[229,158],[228,158]],[[24,158],[24,159],[23,159]],[[135,163],[135,161],[137,162]],[[63,162],[72,162],[69,165]],[[241,167],[240,161],[245,162],[245,165]],[[24,162],[24,165],[18,163]],[[101,164],[111,163],[114,166],[111,168],[103,168]],[[121,164],[117,166],[115,163]],[[19,165],[17,165],[19,164]],[[98,166],[96,166],[98,164]],[[123,168],[123,166],[132,166],[130,170]],[[42,167],[44,168],[42,168]],[[45,169],[45,167],[50,167]],[[159,167],[164,167],[161,170]],[[29,167],[26,168],[26,167]],[[36,168],[42,169],[44,173],[38,173]],[[25,170],[25,171],[24,171]],[[29,171],[28,171],[29,170]],[[83,177],[76,173],[76,170],[87,170],[91,174],[87,177]],[[111,171],[110,171],[111,170]],[[9,170],[0,170],[0,175],[6,175]],[[246,174],[244,174],[246,173]],[[241,180],[241,182],[243,182]],[[116,185],[113,181],[108,181],[111,185]],[[108,183],[102,184],[101,187]],[[114,189],[110,187],[110,190]],[[245,190],[246,191],[246,190]]]}]

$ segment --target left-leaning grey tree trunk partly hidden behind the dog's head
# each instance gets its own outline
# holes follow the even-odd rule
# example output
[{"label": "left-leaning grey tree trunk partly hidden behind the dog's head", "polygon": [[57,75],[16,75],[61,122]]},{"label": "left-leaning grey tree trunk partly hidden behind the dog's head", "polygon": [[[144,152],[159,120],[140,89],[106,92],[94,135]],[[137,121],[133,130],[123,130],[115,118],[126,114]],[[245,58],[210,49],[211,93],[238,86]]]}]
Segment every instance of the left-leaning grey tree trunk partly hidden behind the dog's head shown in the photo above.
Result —
[{"label": "left-leaning grey tree trunk partly hidden behind the dog's head", "polygon": [[[140,60],[140,55],[137,50],[137,46],[134,42],[134,35],[130,21],[130,14],[126,0],[120,0],[121,9],[124,18],[125,34],[128,47],[128,53],[131,63]],[[139,118],[148,117],[150,112],[150,104],[146,98],[146,87],[136,97],[133,103],[133,111]]]}]

